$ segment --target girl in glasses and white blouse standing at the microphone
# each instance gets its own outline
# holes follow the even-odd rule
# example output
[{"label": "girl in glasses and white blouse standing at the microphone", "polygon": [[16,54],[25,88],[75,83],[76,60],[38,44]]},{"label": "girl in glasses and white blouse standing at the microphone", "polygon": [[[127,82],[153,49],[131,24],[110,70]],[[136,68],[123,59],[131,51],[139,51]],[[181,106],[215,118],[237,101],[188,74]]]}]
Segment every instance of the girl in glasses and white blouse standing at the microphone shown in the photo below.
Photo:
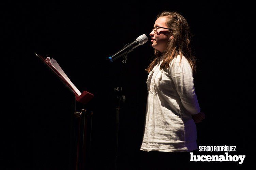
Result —
[{"label": "girl in glasses and white blouse standing at the microphone", "polygon": [[194,89],[196,59],[190,48],[189,25],[176,12],[162,12],[150,36],[156,58],[146,69],[148,99],[141,154],[144,159],[148,152],[157,157],[187,155],[182,160],[186,163],[187,152],[197,149],[195,123],[205,118]]}]

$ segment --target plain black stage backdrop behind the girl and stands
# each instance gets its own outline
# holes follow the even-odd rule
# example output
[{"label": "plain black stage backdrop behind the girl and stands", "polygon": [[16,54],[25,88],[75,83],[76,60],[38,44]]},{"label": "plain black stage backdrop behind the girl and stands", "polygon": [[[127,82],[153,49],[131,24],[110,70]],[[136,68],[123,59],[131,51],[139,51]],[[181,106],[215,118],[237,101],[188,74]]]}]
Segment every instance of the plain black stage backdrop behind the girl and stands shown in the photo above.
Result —
[{"label": "plain black stage backdrop behind the girl and stands", "polygon": [[[198,163],[206,169],[243,168],[254,152],[253,21],[250,4],[199,2],[52,2],[2,4],[2,145],[5,169],[67,169],[73,94],[35,56],[54,58],[80,91],[94,94],[92,165],[111,169],[115,151],[114,87],[123,78],[119,167],[139,164],[147,101],[145,69],[151,42],[121,60],[107,57],[152,30],[162,11],[181,13],[193,33],[195,90],[206,119],[197,124],[198,146],[237,146],[238,162]],[[207,152],[206,152],[207,153]],[[210,153],[210,152],[208,152]],[[231,154],[231,152],[229,152]],[[211,155],[211,154],[210,154]],[[187,160],[189,161],[189,160]]]}]

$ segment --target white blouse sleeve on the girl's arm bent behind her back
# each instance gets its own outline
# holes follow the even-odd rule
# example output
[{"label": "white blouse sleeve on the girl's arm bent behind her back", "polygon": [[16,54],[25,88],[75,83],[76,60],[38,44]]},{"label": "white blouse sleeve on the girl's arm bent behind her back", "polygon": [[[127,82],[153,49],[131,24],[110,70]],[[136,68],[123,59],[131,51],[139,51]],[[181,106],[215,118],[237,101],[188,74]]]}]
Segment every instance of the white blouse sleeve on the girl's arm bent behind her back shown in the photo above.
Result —
[{"label": "white blouse sleeve on the girl's arm bent behind her back", "polygon": [[199,113],[201,109],[197,100],[193,71],[189,61],[184,56],[182,58],[180,55],[176,56],[169,64],[169,73],[184,108],[190,114]]}]

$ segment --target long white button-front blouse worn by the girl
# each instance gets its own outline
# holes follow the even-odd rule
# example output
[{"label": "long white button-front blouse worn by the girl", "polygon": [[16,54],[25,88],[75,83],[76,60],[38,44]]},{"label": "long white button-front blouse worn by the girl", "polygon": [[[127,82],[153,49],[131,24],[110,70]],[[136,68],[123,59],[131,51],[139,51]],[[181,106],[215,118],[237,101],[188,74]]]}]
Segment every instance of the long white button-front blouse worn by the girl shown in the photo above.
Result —
[{"label": "long white button-front blouse worn by the girl", "polygon": [[191,114],[199,113],[200,107],[190,63],[178,55],[170,62],[169,68],[160,70],[163,58],[158,60],[147,79],[148,99],[140,150],[196,150],[197,131]]}]

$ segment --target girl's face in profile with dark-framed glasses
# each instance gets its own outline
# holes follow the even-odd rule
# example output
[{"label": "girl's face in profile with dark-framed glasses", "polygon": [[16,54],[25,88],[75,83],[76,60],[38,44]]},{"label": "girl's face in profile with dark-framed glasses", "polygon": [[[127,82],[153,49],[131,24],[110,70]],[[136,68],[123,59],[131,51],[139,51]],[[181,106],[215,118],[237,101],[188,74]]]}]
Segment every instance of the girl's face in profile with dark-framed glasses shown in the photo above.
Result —
[{"label": "girl's face in profile with dark-framed glasses", "polygon": [[[159,17],[156,19],[154,27],[160,26],[164,28],[168,28],[166,25],[166,17]],[[165,51],[167,43],[171,37],[168,35],[170,34],[168,29],[163,28],[155,28],[149,34],[151,36],[152,47],[156,50],[159,50],[161,53]]]}]

